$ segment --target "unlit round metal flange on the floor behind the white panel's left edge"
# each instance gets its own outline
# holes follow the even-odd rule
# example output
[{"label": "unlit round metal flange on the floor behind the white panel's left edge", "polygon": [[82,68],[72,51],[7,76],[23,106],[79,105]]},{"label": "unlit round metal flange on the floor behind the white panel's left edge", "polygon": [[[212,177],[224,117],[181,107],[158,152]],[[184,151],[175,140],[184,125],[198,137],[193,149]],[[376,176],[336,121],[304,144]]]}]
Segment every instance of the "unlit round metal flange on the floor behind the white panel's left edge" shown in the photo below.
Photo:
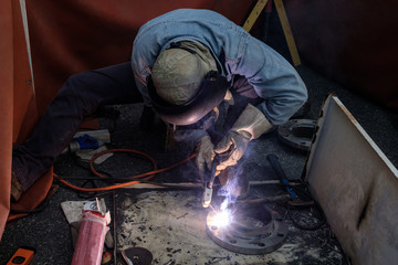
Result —
[{"label": "unlit round metal flange on the floor behind the white panel's left edge", "polygon": [[277,136],[284,144],[307,151],[310,150],[315,128],[316,120],[291,119],[277,127]]}]

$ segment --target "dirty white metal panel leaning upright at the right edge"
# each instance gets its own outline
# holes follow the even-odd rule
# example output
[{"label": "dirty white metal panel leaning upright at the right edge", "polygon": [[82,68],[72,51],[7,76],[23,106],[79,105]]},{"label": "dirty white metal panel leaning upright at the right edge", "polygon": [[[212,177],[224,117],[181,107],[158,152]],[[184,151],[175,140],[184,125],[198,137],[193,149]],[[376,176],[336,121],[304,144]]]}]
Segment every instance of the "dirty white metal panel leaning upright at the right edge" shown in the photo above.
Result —
[{"label": "dirty white metal panel leaning upright at the right edge", "polygon": [[332,230],[353,264],[396,264],[397,169],[336,96],[317,126],[304,176]]}]

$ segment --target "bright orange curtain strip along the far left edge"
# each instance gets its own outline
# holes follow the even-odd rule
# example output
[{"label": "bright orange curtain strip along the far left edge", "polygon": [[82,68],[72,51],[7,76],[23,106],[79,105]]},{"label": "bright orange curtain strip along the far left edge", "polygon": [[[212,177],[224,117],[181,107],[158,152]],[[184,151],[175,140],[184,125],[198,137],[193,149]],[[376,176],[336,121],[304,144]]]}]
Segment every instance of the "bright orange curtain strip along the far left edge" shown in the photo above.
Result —
[{"label": "bright orange curtain strip along the far left edge", "polygon": [[[32,76],[29,65],[20,1],[1,0],[0,9],[0,236],[10,209],[11,152],[33,100]],[[33,110],[33,112],[32,112]],[[30,109],[35,117],[35,109]]]}]

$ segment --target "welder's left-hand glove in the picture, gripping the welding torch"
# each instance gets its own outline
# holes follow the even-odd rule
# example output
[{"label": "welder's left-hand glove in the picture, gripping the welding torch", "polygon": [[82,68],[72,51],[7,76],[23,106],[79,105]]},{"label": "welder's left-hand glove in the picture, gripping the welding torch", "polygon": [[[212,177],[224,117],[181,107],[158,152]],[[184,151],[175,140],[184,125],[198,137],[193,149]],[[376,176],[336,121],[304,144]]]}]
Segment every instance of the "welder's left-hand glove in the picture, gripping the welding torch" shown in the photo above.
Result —
[{"label": "welder's left-hand glove in the picture, gripping the welding torch", "polygon": [[199,170],[201,181],[205,183],[205,169],[211,170],[211,163],[214,159],[214,145],[211,142],[210,136],[206,134],[197,144],[196,165]]}]

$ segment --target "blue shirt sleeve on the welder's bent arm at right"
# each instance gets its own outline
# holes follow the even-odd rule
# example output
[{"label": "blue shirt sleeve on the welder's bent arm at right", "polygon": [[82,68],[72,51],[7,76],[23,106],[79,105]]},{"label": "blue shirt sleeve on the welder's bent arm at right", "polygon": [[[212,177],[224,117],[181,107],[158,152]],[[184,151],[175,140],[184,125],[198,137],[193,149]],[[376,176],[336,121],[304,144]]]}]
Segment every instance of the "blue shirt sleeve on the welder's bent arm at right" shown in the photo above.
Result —
[{"label": "blue shirt sleeve on the welder's bent arm at right", "polygon": [[307,99],[304,82],[295,68],[279,53],[249,36],[232,72],[243,75],[264,98],[256,107],[273,125],[286,123]]}]

